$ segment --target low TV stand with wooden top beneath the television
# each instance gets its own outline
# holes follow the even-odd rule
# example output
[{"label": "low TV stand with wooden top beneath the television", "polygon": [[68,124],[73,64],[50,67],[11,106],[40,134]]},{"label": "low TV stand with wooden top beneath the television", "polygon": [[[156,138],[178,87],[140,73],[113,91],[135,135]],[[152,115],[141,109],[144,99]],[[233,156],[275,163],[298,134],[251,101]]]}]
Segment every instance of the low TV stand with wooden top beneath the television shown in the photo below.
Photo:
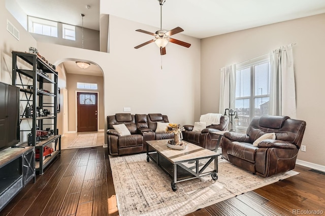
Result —
[{"label": "low TV stand with wooden top beneath the television", "polygon": [[35,148],[0,151],[0,211],[35,176]]}]

